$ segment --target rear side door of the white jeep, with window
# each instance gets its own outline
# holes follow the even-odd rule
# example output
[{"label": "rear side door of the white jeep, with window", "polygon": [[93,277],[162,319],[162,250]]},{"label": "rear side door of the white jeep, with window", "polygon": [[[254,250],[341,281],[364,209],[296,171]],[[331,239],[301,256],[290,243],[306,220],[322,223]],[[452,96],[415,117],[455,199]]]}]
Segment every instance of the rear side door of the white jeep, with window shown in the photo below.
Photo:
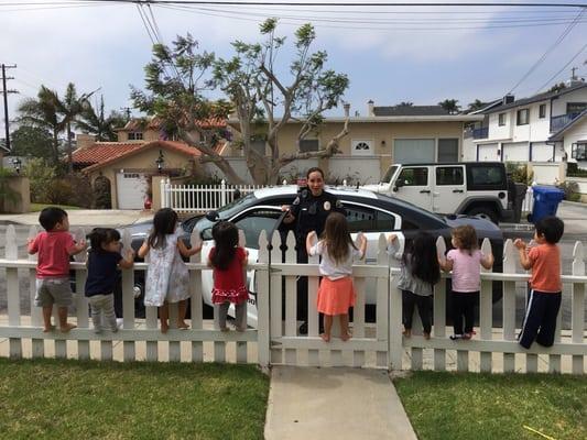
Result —
[{"label": "rear side door of the white jeep, with window", "polygon": [[434,169],[432,193],[434,212],[454,213],[467,197],[465,165],[442,165]]}]

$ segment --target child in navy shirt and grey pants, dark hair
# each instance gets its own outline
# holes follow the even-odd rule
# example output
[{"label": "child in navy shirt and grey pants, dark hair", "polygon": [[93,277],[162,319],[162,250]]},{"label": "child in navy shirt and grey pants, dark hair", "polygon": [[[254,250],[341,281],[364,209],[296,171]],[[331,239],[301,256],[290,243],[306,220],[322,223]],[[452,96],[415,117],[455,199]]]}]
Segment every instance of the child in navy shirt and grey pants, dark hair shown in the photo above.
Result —
[{"label": "child in navy shirt and grey pants, dark hair", "polygon": [[115,314],[115,285],[118,278],[118,266],[131,268],[134,257],[132,250],[127,257],[120,255],[120,233],[116,229],[95,228],[89,234],[91,249],[86,265],[88,277],[85,294],[89,298],[94,331],[102,332],[106,321],[111,331],[117,332]]}]

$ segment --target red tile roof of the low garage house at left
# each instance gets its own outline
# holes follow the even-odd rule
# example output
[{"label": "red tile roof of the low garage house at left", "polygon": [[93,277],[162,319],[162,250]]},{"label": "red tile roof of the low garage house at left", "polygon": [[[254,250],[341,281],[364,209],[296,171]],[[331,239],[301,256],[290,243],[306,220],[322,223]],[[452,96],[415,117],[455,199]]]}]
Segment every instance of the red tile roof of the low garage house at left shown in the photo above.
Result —
[{"label": "red tile roof of the low garage house at left", "polygon": [[89,165],[84,170],[94,170],[149,148],[172,150],[187,156],[199,156],[199,150],[182,142],[97,142],[91,146],[76,150],[73,155],[75,164]]}]

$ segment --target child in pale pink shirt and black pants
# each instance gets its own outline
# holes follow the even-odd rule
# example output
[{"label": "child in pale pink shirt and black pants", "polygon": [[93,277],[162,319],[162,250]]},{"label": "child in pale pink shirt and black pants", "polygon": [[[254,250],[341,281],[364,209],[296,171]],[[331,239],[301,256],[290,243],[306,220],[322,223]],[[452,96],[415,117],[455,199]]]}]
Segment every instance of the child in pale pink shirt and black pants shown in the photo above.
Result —
[{"label": "child in pale pink shirt and black pants", "polygon": [[[448,251],[446,261],[441,261],[445,272],[453,271],[453,327],[455,333],[452,340],[471,339],[475,320],[475,305],[479,301],[481,271],[493,265],[493,255],[483,255],[478,249],[477,233],[469,226],[453,230],[453,246]],[[463,331],[463,316],[465,316],[465,331]]]}]

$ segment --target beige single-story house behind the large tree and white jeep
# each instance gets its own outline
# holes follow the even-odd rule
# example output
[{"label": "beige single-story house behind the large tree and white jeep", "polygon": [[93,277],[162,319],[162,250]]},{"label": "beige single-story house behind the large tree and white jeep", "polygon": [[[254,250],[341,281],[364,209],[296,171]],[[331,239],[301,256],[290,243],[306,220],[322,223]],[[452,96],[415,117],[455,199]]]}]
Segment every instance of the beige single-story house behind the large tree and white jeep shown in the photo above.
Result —
[{"label": "beige single-story house behind the large tree and white jeep", "polygon": [[[284,167],[282,176],[295,177],[311,166],[320,166],[330,182],[368,184],[379,182],[392,163],[458,162],[463,157],[465,124],[480,120],[482,116],[449,114],[439,106],[376,107],[370,101],[366,117],[349,119],[349,133],[340,141],[341,154],[320,161],[297,161]],[[228,123],[238,140],[238,120]],[[298,142],[301,123],[292,121],[279,133],[280,153],[324,148],[344,123],[344,117],[326,118],[316,133]],[[254,141],[253,147],[264,152],[264,141]],[[226,148],[225,155],[241,175],[248,175],[237,147]]]}]

